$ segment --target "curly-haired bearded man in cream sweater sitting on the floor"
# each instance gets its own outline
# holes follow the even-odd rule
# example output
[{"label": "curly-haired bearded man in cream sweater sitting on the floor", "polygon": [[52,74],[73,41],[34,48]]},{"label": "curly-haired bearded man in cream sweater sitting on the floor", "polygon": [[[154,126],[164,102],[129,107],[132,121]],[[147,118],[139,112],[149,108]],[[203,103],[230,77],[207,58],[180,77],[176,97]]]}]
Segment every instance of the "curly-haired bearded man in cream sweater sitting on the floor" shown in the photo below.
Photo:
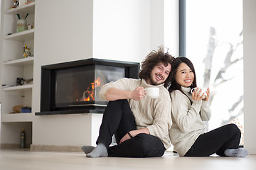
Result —
[{"label": "curly-haired bearded man in cream sweater sitting on the floor", "polygon": [[[152,51],[142,62],[140,79],[105,84],[100,97],[110,101],[100,126],[97,147],[82,146],[87,157],[161,157],[170,147],[171,99],[165,87],[174,57]],[[159,97],[145,97],[144,88],[159,87]],[[112,135],[117,145],[109,147]]]}]

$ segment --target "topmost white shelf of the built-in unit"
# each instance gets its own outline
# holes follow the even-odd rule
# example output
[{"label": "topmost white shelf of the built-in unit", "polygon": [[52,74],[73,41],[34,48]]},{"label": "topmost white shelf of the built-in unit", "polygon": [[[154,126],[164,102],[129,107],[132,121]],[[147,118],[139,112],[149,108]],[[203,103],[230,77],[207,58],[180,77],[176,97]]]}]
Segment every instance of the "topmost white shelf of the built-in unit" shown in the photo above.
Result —
[{"label": "topmost white shelf of the built-in unit", "polygon": [[16,13],[35,13],[35,2],[18,6],[17,8],[7,9],[4,13],[14,15]]}]

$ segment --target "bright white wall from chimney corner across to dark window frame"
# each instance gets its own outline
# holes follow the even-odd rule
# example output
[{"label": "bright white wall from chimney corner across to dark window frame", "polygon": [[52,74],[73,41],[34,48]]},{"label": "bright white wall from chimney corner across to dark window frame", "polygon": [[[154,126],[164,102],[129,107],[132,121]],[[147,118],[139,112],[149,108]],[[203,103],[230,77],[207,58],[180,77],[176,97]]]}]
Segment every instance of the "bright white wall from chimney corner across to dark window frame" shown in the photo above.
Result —
[{"label": "bright white wall from chimney corner across to dark window frame", "polygon": [[177,6],[174,0],[95,0],[93,57],[142,62],[160,45],[177,55]]}]

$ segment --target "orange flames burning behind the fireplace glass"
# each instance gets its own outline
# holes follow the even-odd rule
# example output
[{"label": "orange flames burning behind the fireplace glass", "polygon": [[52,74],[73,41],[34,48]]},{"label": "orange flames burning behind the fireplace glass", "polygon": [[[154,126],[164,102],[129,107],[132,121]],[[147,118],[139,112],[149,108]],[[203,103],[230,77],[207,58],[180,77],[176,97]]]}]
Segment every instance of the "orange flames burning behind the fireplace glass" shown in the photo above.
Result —
[{"label": "orange flames burning behind the fireplace glass", "polygon": [[[83,92],[82,98],[80,98],[80,101],[94,101],[95,100],[95,88],[97,86],[100,86],[101,80],[100,77],[95,79],[94,82],[91,83],[91,87],[87,87],[87,90]],[[90,90],[91,89],[91,90]]]}]

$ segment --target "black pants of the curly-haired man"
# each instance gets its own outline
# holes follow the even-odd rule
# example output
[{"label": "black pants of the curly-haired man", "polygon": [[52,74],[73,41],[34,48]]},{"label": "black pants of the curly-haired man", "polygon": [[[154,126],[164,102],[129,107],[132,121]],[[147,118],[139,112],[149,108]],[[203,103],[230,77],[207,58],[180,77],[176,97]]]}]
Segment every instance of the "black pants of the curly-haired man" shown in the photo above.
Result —
[{"label": "black pants of the curly-haired man", "polygon": [[[96,143],[103,143],[108,148],[109,157],[161,157],[164,154],[166,149],[159,137],[145,133],[119,145],[122,137],[131,130],[137,130],[137,125],[128,101],[110,101],[103,114],[100,135]],[[113,135],[117,145],[109,147]]]}]

